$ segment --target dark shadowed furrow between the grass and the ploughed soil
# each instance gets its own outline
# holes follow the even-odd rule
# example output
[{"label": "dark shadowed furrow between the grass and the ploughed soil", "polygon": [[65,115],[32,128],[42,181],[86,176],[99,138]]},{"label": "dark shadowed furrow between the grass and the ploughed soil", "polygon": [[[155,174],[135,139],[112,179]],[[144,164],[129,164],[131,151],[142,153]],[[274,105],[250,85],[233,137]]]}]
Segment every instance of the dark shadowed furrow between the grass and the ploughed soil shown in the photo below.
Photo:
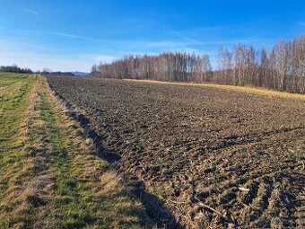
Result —
[{"label": "dark shadowed furrow between the grass and the ploughed soil", "polygon": [[[119,154],[106,151],[103,148],[101,137],[90,127],[90,120],[87,119],[83,114],[78,113],[74,110],[74,106],[66,102],[57,92],[51,89],[56,95],[57,100],[62,103],[65,108],[69,110],[69,116],[76,120],[81,127],[85,130],[88,137],[93,139],[93,144],[98,151],[98,155],[101,159],[107,161],[112,165],[115,171],[119,171],[119,160],[121,156]],[[171,214],[170,209],[165,207],[162,201],[155,195],[148,193],[145,190],[144,181],[139,179],[129,172],[122,172],[120,174],[126,186],[131,189],[131,193],[142,202],[145,207],[147,216],[153,221],[153,225],[157,225],[158,228],[183,228]]]}]

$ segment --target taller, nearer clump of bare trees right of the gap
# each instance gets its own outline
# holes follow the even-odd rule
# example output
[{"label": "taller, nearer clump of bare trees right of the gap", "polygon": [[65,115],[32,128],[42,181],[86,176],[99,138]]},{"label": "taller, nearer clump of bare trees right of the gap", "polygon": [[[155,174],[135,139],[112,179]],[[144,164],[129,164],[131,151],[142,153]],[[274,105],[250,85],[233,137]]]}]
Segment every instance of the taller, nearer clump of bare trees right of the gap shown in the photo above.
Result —
[{"label": "taller, nearer clump of bare trees right of the gap", "polygon": [[279,41],[269,52],[244,45],[220,48],[213,82],[304,93],[305,36]]}]

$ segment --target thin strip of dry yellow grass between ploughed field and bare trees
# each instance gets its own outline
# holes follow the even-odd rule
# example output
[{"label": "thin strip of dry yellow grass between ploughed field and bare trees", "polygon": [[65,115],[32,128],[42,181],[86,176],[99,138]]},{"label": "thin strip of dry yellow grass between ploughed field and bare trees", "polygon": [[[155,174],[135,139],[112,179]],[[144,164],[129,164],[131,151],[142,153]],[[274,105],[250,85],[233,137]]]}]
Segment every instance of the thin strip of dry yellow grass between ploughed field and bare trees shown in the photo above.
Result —
[{"label": "thin strip of dry yellow grass between ploughed field and bare trees", "polygon": [[233,85],[223,85],[223,84],[193,84],[193,83],[163,82],[163,81],[154,81],[154,80],[134,80],[134,79],[126,79],[126,81],[144,82],[151,84],[176,84],[176,85],[209,87],[209,88],[227,90],[231,92],[244,92],[249,94],[263,95],[267,97],[305,101],[304,94],[279,92],[265,88],[257,88],[257,87],[249,87],[249,86],[233,86]]}]

